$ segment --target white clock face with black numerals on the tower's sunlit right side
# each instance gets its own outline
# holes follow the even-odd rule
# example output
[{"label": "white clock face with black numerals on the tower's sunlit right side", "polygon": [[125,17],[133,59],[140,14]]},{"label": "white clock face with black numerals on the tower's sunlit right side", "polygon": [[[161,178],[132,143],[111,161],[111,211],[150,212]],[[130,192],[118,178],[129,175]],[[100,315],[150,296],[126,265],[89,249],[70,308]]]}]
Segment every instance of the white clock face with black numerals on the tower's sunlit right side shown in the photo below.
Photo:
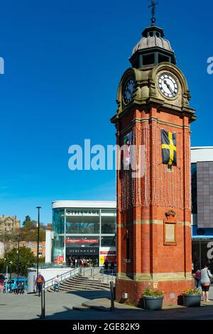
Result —
[{"label": "white clock face with black numerals on the tower's sunlit right side", "polygon": [[165,97],[175,97],[178,94],[178,80],[170,73],[162,73],[158,78],[158,87]]}]

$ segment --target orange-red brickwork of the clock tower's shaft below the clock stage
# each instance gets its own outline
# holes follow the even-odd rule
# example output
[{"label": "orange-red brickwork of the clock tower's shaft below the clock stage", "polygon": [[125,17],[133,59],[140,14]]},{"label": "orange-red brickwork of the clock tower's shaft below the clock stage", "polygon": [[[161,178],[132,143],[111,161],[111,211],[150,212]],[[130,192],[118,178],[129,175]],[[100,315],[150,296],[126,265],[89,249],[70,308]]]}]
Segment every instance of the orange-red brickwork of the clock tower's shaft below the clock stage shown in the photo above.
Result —
[{"label": "orange-red brickwork of the clock tower's shaft below the clock stage", "polygon": [[[159,121],[165,124],[161,125]],[[138,134],[146,129],[147,136],[143,136],[141,143],[146,146],[146,168],[145,175],[139,181],[130,178],[128,189],[132,193],[126,202],[122,177],[131,171],[117,173],[116,299],[120,300],[121,293],[127,292],[129,301],[137,304],[143,290],[148,286],[153,289],[155,283],[158,289],[165,291],[165,304],[178,303],[182,290],[194,284],[191,276],[189,119],[152,107],[149,112],[136,109],[124,119],[121,117],[120,133],[128,124],[133,125],[126,133],[131,130]],[[173,166],[171,171],[161,163],[161,128],[177,134],[177,166]],[[123,144],[126,133],[117,136],[117,144]],[[140,141],[136,135],[133,144]],[[137,183],[138,187],[133,187],[133,183]],[[175,245],[164,244],[163,224],[165,212],[169,209],[175,211],[177,220]],[[127,236],[130,241],[130,259],[126,261]],[[124,273],[127,280],[121,279]]]}]

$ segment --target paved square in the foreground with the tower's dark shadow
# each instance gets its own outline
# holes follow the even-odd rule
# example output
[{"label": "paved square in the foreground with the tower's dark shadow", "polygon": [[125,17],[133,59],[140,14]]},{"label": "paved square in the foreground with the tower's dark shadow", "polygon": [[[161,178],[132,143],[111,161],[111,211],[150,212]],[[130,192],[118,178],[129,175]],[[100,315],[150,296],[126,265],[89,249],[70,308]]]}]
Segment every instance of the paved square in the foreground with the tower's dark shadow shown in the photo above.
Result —
[{"label": "paved square in the foreground with the tower's dark shadow", "polygon": [[[45,293],[45,320],[212,320],[213,287],[209,299],[210,303],[202,302],[197,308],[170,306],[160,311],[115,302],[111,312],[109,291]],[[40,297],[34,294],[0,295],[0,320],[39,320],[40,313]]]}]

